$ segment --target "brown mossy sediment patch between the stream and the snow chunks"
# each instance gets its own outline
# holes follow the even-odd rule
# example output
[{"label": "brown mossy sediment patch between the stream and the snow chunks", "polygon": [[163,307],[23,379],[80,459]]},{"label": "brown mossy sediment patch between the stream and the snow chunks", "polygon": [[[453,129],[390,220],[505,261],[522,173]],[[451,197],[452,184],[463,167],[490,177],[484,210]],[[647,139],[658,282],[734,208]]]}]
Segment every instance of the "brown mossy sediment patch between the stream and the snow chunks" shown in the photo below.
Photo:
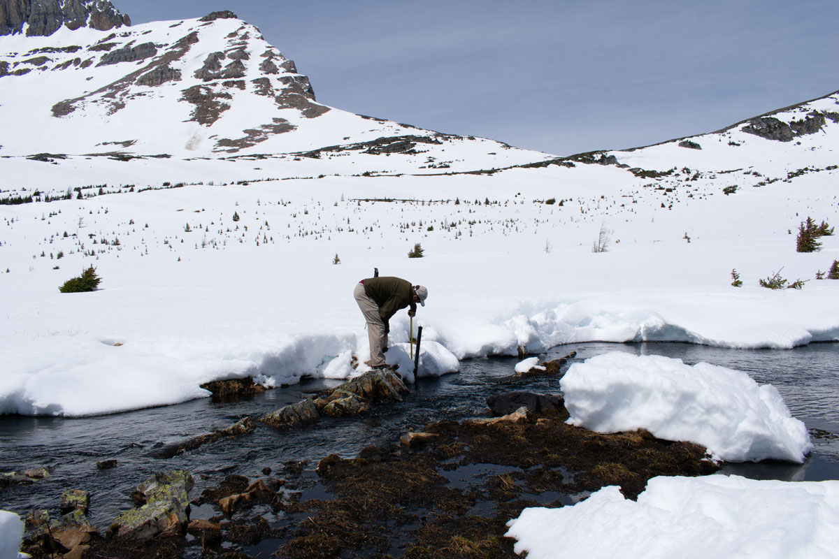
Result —
[{"label": "brown mossy sediment patch between the stream and the snow chunks", "polygon": [[[519,422],[436,423],[425,431],[437,437],[416,451],[394,446],[367,448],[352,459],[331,455],[318,474],[335,499],[289,508],[306,520],[280,553],[516,557],[503,534],[525,507],[563,506],[612,484],[636,499],[656,475],[717,469],[696,444],[645,431],[600,434],[565,424],[567,417],[563,410]],[[544,494],[557,498],[546,502]]]}]

